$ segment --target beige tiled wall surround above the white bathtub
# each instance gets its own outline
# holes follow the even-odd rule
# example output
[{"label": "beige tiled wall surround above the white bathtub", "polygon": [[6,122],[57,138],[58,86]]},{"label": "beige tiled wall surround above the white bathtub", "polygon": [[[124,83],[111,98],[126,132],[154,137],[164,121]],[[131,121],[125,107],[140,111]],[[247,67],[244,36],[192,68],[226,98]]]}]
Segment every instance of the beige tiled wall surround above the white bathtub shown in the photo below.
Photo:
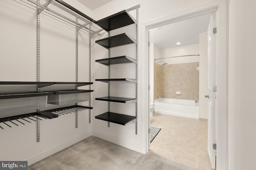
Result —
[{"label": "beige tiled wall surround above the white bathtub", "polygon": [[[199,62],[182,64],[154,63],[154,100],[162,98],[199,100]],[[156,92],[156,88],[159,92]],[[180,95],[176,94],[180,91]],[[155,94],[157,96],[155,96]]]}]

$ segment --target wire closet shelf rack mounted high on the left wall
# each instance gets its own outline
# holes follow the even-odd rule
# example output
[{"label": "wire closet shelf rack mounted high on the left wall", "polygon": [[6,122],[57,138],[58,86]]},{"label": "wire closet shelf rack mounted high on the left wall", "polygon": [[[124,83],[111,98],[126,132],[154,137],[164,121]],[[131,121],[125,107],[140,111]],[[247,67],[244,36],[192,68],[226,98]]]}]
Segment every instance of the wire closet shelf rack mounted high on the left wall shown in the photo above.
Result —
[{"label": "wire closet shelf rack mounted high on the left wall", "polygon": [[62,0],[20,0],[38,10],[38,14],[45,12],[51,16],[54,16],[62,21],[65,21],[71,25],[77,27],[77,29],[82,29],[91,35],[98,34],[103,29],[99,28],[95,24],[95,21],[70,6]]}]

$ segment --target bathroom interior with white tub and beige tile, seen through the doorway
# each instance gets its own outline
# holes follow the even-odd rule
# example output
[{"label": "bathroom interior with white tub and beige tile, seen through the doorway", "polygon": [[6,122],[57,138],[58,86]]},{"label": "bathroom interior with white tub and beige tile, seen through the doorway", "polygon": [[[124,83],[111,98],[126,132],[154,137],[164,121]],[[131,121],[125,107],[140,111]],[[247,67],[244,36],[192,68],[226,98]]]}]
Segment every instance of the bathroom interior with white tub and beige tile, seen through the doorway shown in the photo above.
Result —
[{"label": "bathroom interior with white tub and beige tile, seen through the doorway", "polygon": [[207,149],[211,14],[150,29],[150,152],[211,169]]}]

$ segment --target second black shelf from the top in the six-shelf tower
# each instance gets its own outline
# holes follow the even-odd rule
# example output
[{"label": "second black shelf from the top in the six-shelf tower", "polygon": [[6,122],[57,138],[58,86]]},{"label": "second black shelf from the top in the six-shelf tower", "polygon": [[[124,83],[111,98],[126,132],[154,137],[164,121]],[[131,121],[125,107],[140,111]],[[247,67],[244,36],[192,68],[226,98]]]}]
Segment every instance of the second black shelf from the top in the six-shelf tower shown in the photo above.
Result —
[{"label": "second black shelf from the top in the six-shelf tower", "polygon": [[112,37],[97,40],[95,41],[95,43],[101,45],[102,47],[105,47],[106,49],[109,49],[112,47],[136,43],[136,41],[132,37],[130,37],[130,35],[122,33],[119,35],[114,35]]}]

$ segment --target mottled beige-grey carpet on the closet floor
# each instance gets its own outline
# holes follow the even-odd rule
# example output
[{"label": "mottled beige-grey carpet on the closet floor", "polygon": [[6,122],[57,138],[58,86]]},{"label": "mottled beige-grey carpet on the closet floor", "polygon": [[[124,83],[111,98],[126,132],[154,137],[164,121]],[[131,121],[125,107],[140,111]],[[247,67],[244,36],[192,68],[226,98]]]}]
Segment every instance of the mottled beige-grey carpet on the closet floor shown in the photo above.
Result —
[{"label": "mottled beige-grey carpet on the closet floor", "polygon": [[91,136],[28,170],[196,170],[154,153],[141,154]]}]

